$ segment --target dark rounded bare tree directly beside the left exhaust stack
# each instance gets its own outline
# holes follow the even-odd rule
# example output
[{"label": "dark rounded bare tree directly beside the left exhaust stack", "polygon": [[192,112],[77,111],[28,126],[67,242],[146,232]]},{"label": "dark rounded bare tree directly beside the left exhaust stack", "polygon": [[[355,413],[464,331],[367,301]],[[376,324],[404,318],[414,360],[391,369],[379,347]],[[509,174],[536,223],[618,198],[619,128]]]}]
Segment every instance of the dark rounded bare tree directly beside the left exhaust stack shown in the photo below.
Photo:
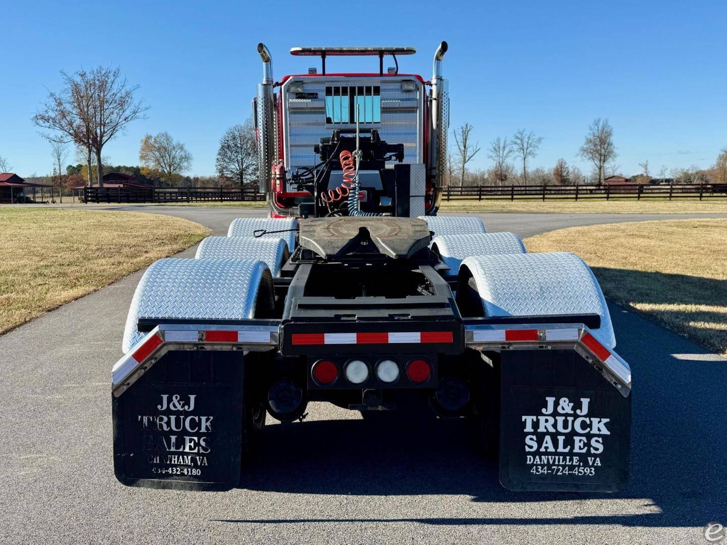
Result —
[{"label": "dark rounded bare tree directly beside the left exhaust stack", "polygon": [[217,175],[242,189],[246,181],[253,181],[257,171],[257,142],[252,121],[236,124],[225,131],[214,162]]}]

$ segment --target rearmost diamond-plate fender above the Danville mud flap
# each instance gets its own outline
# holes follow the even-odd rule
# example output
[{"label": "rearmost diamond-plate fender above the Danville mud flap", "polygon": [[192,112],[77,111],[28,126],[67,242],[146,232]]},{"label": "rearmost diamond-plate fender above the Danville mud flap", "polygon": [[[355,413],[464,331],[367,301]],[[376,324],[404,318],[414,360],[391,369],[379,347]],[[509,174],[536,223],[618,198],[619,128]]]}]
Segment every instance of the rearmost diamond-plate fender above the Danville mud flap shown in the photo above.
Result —
[{"label": "rearmost diamond-plate fender above the Danville mud flap", "polygon": [[600,314],[601,327],[593,332],[608,348],[616,346],[601,287],[577,255],[480,255],[463,260],[465,266],[472,272],[488,316]]}]

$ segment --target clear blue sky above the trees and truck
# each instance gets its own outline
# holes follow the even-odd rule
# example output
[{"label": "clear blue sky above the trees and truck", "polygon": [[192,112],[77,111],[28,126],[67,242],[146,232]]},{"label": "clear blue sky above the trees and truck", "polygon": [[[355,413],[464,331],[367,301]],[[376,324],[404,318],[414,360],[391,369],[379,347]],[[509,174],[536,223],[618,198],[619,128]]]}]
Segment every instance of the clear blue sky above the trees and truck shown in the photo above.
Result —
[{"label": "clear blue sky above the trees and truck", "polygon": [[[344,7],[351,6],[348,12]],[[403,72],[430,78],[449,42],[451,122],[474,125],[486,146],[525,127],[544,138],[532,166],[577,159],[588,124],[609,119],[625,174],[714,162],[727,146],[727,3],[712,1],[507,2],[7,2],[0,6],[0,156],[20,175],[52,169],[31,124],[59,71],[121,67],[150,106],[105,154],[138,164],[145,133],[166,130],[212,174],[222,132],[249,116],[260,80],[255,46],[276,79],[316,63],[299,45],[407,45]],[[377,60],[329,60],[329,71],[367,71]]]}]

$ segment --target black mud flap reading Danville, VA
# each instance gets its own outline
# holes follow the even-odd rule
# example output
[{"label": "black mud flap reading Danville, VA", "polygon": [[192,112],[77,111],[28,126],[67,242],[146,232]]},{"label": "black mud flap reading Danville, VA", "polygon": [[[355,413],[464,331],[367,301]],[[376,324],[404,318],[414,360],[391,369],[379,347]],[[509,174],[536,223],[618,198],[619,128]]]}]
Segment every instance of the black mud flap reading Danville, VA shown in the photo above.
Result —
[{"label": "black mud flap reading Danville, VA", "polygon": [[499,478],[510,490],[613,492],[628,478],[631,397],[574,350],[502,353]]}]

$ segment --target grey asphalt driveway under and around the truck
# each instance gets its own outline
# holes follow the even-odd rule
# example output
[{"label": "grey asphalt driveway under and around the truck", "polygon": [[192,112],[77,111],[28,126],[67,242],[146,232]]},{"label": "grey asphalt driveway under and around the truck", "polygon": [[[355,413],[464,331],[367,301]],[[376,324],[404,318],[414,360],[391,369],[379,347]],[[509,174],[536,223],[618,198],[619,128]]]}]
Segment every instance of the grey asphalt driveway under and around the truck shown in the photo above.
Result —
[{"label": "grey asphalt driveway under and around the truck", "polygon": [[[216,234],[260,214],[168,208],[149,211]],[[626,220],[607,216],[483,215],[523,236]],[[140,277],[0,336],[0,543],[699,544],[707,522],[727,523],[727,360],[618,307],[617,350],[634,376],[624,493],[511,493],[460,421],[371,426],[325,404],[266,426],[243,488],[125,488],[113,477],[109,378]]]}]

